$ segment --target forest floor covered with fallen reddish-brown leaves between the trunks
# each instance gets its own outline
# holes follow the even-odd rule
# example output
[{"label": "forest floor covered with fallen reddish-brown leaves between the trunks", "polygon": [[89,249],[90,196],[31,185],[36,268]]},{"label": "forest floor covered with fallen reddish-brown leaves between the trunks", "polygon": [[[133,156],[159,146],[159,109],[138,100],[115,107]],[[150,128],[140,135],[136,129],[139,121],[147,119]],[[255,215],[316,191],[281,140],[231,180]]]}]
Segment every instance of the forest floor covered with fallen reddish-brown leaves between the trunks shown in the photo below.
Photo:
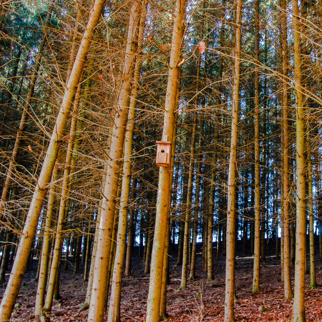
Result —
[{"label": "forest floor covered with fallen reddish-brown leaves between the trunks", "polygon": [[[177,251],[170,253],[171,284],[167,288],[167,313],[169,322],[223,321],[225,298],[225,257],[214,261],[215,279],[207,282],[207,273],[201,269],[201,253],[196,264],[198,277],[188,281],[187,289],[178,291],[181,280],[181,266],[176,266]],[[283,283],[280,281],[280,260],[275,259],[275,251],[266,253],[266,262],[261,263],[260,293],[252,294],[253,258],[236,253],[236,321],[278,321],[288,322],[292,316],[292,301],[283,299]],[[34,306],[37,282],[33,281],[38,260],[33,260],[31,270],[24,275],[12,319],[34,321]],[[61,271],[59,301],[53,302],[51,321],[87,321],[88,310],[79,312],[85,300],[87,283],[83,282],[84,264],[78,274],[70,270]],[[306,275],[305,308],[306,321],[322,322],[322,261],[316,261],[317,289],[309,289],[309,275]],[[11,269],[11,267],[9,266]],[[146,317],[149,278],[142,269],[142,258],[137,257],[137,250],[132,259],[133,275],[123,278],[121,299],[121,320],[143,322]],[[291,266],[294,272],[294,265]],[[8,274],[6,274],[8,278]],[[294,286],[294,276],[292,285]],[[5,288],[0,288],[2,298]],[[259,307],[266,311],[260,312]],[[107,319],[107,315],[104,320]]]}]

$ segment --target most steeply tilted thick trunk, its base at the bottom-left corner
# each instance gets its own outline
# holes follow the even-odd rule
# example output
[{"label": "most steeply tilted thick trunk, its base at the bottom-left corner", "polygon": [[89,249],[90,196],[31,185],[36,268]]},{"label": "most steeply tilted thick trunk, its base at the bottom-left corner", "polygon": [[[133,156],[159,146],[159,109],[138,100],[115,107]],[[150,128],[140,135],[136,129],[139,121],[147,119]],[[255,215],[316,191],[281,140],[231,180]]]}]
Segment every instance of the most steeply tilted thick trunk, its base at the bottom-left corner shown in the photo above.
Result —
[{"label": "most steeply tilted thick trunk, its base at the bottom-left corner", "polygon": [[69,112],[75,96],[76,87],[80,81],[84,61],[90,47],[90,40],[93,29],[97,25],[101,11],[103,9],[103,5],[104,0],[96,0],[93,4],[92,10],[89,15],[89,21],[84,31],[81,44],[71,71],[71,76],[62,98],[62,105],[55,122],[45,159],[43,161],[43,167],[37,180],[37,185],[29,207],[10,279],[1,301],[0,318],[2,320],[10,318],[12,310],[14,308],[14,303],[18,296],[20,285],[24,276],[24,270],[27,264],[27,258],[32,246],[34,235],[36,233],[39,215],[43,207],[43,200],[47,192],[48,184],[52,177],[52,170],[56,162],[62,138],[64,137],[66,121],[69,117]]}]

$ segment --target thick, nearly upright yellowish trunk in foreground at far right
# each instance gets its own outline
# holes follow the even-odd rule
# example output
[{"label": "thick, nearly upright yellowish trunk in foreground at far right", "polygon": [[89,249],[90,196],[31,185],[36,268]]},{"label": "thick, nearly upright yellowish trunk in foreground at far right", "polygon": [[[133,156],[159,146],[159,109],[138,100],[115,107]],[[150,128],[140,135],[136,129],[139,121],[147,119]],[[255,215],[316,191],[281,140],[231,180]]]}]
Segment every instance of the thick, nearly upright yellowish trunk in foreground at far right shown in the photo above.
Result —
[{"label": "thick, nearly upright yellowish trunk in foreground at far right", "polygon": [[292,0],[294,38],[294,85],[296,94],[296,253],[294,302],[292,322],[305,322],[305,237],[306,237],[306,171],[305,171],[305,115],[301,84],[300,23],[298,1]]}]

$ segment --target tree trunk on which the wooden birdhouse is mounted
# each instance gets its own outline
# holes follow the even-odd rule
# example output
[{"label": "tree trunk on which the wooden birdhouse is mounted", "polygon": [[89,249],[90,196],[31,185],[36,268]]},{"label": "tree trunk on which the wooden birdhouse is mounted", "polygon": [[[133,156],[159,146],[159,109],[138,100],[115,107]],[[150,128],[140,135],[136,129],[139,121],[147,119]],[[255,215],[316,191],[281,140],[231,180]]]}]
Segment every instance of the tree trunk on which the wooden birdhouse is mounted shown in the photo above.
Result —
[{"label": "tree trunk on which the wooden birdhouse is mounted", "polygon": [[[166,89],[166,101],[163,123],[163,136],[167,136],[168,141],[173,141],[174,123],[175,123],[175,109],[177,106],[177,87],[179,82],[178,64],[181,61],[180,52],[182,48],[182,41],[185,29],[185,8],[186,0],[176,0],[175,8],[173,10],[173,29],[172,29],[172,43],[168,71],[168,84]],[[171,160],[171,152],[169,156]],[[147,298],[147,322],[159,321],[160,317],[160,299],[161,299],[161,285],[162,285],[162,270],[164,261],[164,249],[166,236],[166,223],[169,213],[169,193],[171,167],[160,167],[159,171],[159,187],[158,198],[156,203],[156,226],[155,238],[153,242],[151,273],[149,294]]]}]

